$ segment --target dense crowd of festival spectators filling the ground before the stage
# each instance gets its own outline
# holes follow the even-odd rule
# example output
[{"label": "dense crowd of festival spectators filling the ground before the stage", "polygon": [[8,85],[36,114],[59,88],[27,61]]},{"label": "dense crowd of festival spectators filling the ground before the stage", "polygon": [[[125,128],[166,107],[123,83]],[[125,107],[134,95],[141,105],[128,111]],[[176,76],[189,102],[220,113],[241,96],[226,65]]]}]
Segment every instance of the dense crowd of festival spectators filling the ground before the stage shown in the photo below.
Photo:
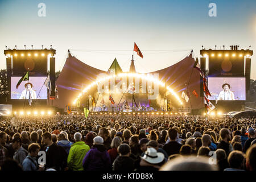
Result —
[{"label": "dense crowd of festival spectators filling the ground before the stage", "polygon": [[255,171],[256,119],[52,115],[0,119],[2,171]]}]

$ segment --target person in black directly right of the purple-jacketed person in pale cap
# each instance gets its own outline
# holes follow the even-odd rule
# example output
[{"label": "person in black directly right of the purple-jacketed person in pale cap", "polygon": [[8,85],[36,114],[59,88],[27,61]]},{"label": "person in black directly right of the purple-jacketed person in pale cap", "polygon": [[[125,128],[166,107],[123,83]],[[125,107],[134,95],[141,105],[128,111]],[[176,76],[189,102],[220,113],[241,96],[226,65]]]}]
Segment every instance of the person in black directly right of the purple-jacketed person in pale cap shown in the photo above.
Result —
[{"label": "person in black directly right of the purple-jacketed person in pale cap", "polygon": [[118,156],[113,162],[113,171],[133,171],[134,160],[130,157],[131,148],[129,144],[123,143],[117,148]]}]

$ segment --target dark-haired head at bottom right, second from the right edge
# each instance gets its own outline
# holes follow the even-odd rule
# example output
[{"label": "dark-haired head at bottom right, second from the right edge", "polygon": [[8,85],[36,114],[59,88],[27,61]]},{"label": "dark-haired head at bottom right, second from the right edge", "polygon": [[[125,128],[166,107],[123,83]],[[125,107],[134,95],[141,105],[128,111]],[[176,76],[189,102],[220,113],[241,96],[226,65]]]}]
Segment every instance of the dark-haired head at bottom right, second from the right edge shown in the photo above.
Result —
[{"label": "dark-haired head at bottom right, second from the right edge", "polygon": [[241,151],[230,152],[228,163],[230,168],[226,168],[224,171],[245,171],[245,155]]}]

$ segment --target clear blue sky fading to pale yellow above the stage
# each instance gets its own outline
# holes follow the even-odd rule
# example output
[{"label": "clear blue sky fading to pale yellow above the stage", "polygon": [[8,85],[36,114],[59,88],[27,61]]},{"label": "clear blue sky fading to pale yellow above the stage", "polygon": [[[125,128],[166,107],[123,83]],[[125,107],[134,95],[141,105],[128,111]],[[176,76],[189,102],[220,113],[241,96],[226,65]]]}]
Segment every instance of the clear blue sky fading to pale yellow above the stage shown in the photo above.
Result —
[{"label": "clear blue sky fading to pale yellow above the stage", "polygon": [[[40,2],[46,4],[46,17],[38,16]],[[208,15],[211,2],[217,5],[217,17]],[[53,45],[56,70],[73,49],[73,55],[93,67],[106,71],[117,57],[128,71],[136,42],[144,58],[135,55],[135,66],[138,72],[150,72],[177,63],[188,49],[199,56],[202,45],[251,46],[255,51],[256,1],[0,0],[0,40],[1,69],[6,68],[5,46]],[[176,49],[184,51],[163,51]],[[254,57],[251,78],[256,79]]]}]

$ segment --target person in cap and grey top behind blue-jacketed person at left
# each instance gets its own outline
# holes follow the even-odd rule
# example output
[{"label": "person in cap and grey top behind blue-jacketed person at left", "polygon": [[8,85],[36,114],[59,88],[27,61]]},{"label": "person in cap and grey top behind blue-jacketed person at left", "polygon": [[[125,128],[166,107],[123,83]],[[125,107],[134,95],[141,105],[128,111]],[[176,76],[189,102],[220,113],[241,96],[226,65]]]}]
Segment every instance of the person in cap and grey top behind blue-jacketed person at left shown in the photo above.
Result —
[{"label": "person in cap and grey top behind blue-jacketed person at left", "polygon": [[22,165],[23,160],[26,158],[28,151],[22,147],[22,140],[19,137],[13,139],[13,148],[15,150],[13,159]]}]

